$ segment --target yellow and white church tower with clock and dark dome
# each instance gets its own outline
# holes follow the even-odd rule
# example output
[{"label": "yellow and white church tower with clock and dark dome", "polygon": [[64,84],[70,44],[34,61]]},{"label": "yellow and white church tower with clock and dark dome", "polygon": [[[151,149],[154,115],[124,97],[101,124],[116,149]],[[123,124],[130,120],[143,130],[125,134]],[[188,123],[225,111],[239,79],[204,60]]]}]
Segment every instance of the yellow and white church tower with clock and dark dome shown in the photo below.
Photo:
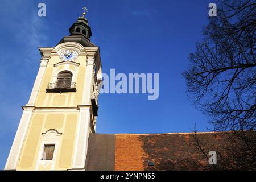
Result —
[{"label": "yellow and white church tower with clock and dark dome", "polygon": [[[84,11],[85,15],[85,11]],[[88,20],[77,19],[55,47],[41,47],[40,67],[5,170],[84,170],[95,133],[100,49]]]}]

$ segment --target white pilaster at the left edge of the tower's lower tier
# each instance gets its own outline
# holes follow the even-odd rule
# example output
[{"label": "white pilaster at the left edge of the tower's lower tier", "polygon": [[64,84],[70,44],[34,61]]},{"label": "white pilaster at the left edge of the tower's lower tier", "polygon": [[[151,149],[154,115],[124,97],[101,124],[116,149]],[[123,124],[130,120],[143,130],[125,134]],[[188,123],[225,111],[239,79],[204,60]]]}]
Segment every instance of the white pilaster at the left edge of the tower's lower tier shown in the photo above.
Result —
[{"label": "white pilaster at the left edge of the tower's lower tier", "polygon": [[22,118],[20,119],[18,130],[16,131],[13,146],[11,146],[11,151],[5,165],[5,170],[16,170],[34,108],[35,107],[23,107],[24,110]]}]

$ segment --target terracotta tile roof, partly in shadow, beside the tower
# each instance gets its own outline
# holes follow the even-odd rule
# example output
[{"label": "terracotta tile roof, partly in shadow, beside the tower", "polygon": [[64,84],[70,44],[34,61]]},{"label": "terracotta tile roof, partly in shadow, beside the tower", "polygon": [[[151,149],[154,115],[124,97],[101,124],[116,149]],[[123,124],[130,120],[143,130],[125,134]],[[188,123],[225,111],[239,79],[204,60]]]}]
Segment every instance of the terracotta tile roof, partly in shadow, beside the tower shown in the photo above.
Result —
[{"label": "terracotta tile roof, partly in shadow, beside the tower", "polygon": [[[225,146],[224,133],[198,133],[197,135],[203,139],[209,151],[221,150],[221,146]],[[94,135],[94,137],[97,136]],[[91,152],[92,156],[88,159],[94,159],[94,161],[93,163],[87,161],[87,164],[101,163],[104,166],[104,162],[114,163],[115,170],[205,170],[211,167],[206,156],[195,147],[193,133],[113,134],[113,136],[114,144],[112,141],[111,150],[114,150],[114,159],[107,155],[101,159],[93,156],[97,155],[97,152]],[[215,148],[216,143],[220,146],[218,149]],[[94,144],[95,146],[97,144]],[[105,148],[109,150],[108,146]],[[114,161],[109,162],[109,160]],[[154,166],[148,166],[148,162],[154,162]],[[88,168],[97,169],[95,166]]]}]

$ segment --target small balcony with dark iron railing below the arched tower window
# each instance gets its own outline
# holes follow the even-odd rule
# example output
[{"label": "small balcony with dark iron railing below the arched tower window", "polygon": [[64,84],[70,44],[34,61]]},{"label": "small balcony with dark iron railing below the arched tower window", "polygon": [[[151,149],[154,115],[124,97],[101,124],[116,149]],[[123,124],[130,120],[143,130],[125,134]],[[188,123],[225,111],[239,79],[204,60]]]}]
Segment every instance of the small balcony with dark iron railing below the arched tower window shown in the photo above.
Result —
[{"label": "small balcony with dark iron railing below the arched tower window", "polygon": [[49,83],[46,92],[76,92],[76,82],[56,82],[56,83]]}]

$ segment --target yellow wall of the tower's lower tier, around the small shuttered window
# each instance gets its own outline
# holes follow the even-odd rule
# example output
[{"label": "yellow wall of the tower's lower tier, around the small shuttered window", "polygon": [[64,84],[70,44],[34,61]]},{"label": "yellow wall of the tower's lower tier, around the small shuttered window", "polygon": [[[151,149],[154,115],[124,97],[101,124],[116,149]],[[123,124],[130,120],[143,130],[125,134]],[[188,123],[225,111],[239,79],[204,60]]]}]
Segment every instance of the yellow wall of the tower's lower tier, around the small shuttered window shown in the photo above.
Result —
[{"label": "yellow wall of the tower's lower tier, around the small shuttered window", "polygon": [[[59,145],[55,148],[55,170],[72,168],[72,157],[76,137],[76,125],[79,112],[38,112],[34,113],[30,122],[18,170],[35,170],[36,161],[40,158],[39,150],[42,133],[49,129],[56,129],[61,134]],[[61,154],[61,155],[60,155]],[[49,170],[51,165],[40,165],[39,170]]]}]

